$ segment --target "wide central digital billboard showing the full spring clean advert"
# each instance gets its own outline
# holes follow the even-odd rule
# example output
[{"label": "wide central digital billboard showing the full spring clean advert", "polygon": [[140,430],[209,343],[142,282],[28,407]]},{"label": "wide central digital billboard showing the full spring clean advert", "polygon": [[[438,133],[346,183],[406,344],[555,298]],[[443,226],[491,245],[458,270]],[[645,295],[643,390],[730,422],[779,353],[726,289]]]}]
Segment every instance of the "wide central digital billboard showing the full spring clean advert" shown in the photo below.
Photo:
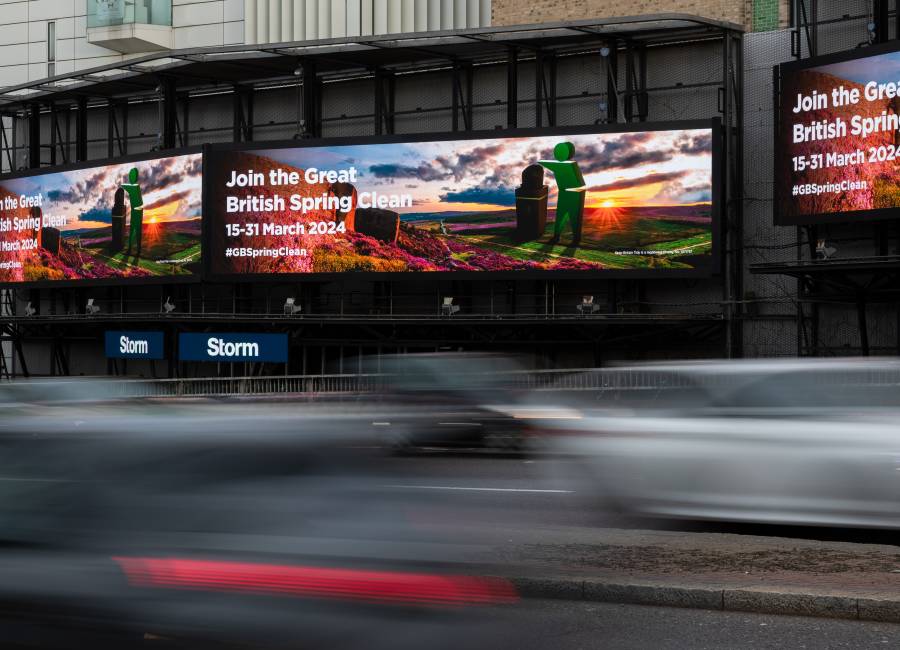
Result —
[{"label": "wide central digital billboard showing the full spring clean advert", "polygon": [[710,273],[715,123],[634,129],[213,147],[208,268]]}]

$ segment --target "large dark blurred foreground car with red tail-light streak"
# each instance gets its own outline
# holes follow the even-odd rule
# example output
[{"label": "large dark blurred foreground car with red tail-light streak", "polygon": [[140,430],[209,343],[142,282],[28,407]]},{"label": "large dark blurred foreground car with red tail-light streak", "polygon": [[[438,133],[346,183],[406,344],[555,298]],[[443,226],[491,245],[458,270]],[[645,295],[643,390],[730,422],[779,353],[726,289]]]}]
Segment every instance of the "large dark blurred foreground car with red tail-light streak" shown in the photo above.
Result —
[{"label": "large dark blurred foreground car with red tail-light streak", "polygon": [[392,487],[368,409],[91,386],[0,386],[4,647],[502,638],[515,589],[464,560],[470,539],[428,525],[431,494]]}]

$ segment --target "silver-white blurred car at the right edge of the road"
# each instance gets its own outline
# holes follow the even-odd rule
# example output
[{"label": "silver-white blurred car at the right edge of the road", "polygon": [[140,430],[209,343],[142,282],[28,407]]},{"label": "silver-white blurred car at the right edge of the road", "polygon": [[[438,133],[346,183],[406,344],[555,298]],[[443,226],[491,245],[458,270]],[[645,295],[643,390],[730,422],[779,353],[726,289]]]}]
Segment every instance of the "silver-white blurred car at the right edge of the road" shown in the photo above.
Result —
[{"label": "silver-white blurred car at the right edge of the road", "polygon": [[[616,373],[628,372],[655,373],[662,388],[615,389]],[[553,440],[582,457],[585,489],[610,508],[900,528],[900,362],[714,361],[610,374],[609,400],[557,421],[564,435]]]}]

